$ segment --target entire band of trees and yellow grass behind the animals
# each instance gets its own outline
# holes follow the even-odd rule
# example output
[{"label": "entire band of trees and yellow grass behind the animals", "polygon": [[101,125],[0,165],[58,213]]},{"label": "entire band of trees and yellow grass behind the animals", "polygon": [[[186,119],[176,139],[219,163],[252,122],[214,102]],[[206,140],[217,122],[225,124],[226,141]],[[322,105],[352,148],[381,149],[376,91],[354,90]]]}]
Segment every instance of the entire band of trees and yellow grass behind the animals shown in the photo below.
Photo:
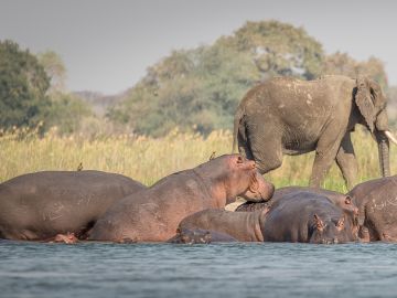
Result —
[{"label": "entire band of trees and yellow grass behind the animals", "polygon": [[[397,87],[388,87],[382,62],[328,55],[302,28],[277,21],[248,22],[214,44],[173,51],[119,96],[72,94],[56,53],[34,56],[0,41],[0,181],[39,170],[75,170],[83,162],[84,169],[151,184],[207,160],[213,151],[229,153],[235,108],[258,82],[324,74],[361,74],[379,82],[389,95],[390,124],[397,127]],[[106,111],[109,103],[117,104]],[[353,135],[363,181],[378,177],[377,149],[357,130]],[[267,178],[277,187],[307,185],[312,159],[285,157]],[[323,187],[345,191],[335,167]]]}]

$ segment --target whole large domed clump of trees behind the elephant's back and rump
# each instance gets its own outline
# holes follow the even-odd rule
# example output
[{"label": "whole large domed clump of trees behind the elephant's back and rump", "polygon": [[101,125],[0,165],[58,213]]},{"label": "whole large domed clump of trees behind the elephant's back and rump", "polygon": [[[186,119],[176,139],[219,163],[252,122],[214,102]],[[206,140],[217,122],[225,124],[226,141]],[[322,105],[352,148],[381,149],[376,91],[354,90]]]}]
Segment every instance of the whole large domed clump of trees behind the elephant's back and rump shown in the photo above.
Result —
[{"label": "whole large domed clump of trees behind the elephant's back and rump", "polygon": [[312,78],[322,57],[321,44],[303,29],[248,22],[213,45],[173,51],[148,68],[108,117],[152,136],[175,127],[204,135],[232,128],[236,106],[253,85],[275,75]]}]

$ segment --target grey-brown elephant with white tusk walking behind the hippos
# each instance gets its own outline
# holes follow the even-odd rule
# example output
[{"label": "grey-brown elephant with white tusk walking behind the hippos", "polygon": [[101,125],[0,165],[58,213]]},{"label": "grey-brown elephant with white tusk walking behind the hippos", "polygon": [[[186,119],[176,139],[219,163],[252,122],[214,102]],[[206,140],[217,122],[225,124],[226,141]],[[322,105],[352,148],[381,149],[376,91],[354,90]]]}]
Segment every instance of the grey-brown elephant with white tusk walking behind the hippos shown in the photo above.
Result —
[{"label": "grey-brown elephant with white tusk walking behind the hippos", "polygon": [[253,87],[239,104],[234,120],[233,150],[257,163],[260,173],[281,166],[282,155],[315,150],[310,178],[320,187],[335,160],[351,189],[357,175],[351,132],[362,124],[378,143],[382,174],[389,175],[386,98],[367,78],[323,76],[314,81],[277,77]]}]

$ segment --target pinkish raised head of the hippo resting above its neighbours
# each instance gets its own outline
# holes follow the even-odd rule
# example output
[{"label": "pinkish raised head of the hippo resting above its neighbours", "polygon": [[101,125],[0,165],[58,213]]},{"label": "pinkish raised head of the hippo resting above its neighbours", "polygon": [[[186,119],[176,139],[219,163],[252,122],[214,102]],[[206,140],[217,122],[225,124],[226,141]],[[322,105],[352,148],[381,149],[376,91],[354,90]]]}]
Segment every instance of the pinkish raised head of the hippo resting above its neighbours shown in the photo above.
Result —
[{"label": "pinkish raised head of the hippo resting above its neighbours", "polygon": [[256,163],[240,155],[228,156],[228,178],[225,180],[228,198],[243,196],[250,202],[271,199],[275,187],[267,182],[256,169]]}]

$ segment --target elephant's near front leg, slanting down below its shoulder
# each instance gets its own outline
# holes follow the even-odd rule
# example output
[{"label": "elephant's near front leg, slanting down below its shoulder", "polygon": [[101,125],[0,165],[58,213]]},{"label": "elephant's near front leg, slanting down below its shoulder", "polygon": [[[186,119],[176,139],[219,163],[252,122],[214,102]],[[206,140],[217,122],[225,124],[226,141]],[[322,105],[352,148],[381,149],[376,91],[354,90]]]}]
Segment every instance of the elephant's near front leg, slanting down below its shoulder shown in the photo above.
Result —
[{"label": "elephant's near front leg, slanting down below its shoulder", "polygon": [[332,162],[335,160],[343,135],[340,134],[336,124],[331,124],[324,130],[318,141],[313,170],[310,178],[310,187],[320,188],[326,173],[330,171]]}]

